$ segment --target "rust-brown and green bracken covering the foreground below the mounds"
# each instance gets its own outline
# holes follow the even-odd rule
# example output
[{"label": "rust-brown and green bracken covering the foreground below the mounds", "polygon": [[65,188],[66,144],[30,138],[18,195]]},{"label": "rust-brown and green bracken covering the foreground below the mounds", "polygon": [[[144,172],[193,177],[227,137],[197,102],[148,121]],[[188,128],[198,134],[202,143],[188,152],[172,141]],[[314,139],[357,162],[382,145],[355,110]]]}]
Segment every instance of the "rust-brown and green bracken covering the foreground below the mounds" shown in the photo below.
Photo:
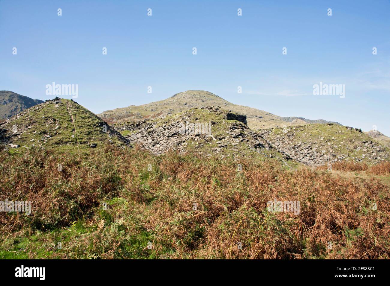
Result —
[{"label": "rust-brown and green bracken covering the foreground below the mounds", "polygon": [[[33,204],[31,216],[0,213],[0,245],[9,248],[17,237],[39,232],[37,242],[26,246],[31,258],[34,247],[47,246],[53,236],[66,242],[46,258],[390,256],[390,193],[378,179],[190,154],[156,157],[138,148],[0,156],[0,200]],[[369,171],[388,174],[389,165],[375,167]],[[300,201],[300,213],[268,212],[267,202],[275,198]]]}]

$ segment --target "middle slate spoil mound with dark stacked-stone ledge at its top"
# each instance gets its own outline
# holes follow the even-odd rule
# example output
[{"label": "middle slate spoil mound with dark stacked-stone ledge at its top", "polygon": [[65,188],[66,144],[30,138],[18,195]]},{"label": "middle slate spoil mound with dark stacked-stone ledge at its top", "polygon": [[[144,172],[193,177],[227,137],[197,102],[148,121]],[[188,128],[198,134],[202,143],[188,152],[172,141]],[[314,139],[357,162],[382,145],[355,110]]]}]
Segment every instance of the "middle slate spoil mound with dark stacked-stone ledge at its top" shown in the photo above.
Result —
[{"label": "middle slate spoil mound with dark stacked-stone ledge at its top", "polygon": [[[197,128],[199,124],[203,125]],[[202,132],[202,127],[211,132]],[[224,154],[227,150],[239,154],[243,149],[262,153],[264,149],[271,149],[259,133],[248,128],[245,115],[220,107],[190,109],[168,120],[121,123],[113,125],[113,128],[121,132],[126,130],[129,132],[126,138],[131,143],[141,144],[153,154],[162,154],[169,149],[181,153],[193,149],[207,154]]]}]

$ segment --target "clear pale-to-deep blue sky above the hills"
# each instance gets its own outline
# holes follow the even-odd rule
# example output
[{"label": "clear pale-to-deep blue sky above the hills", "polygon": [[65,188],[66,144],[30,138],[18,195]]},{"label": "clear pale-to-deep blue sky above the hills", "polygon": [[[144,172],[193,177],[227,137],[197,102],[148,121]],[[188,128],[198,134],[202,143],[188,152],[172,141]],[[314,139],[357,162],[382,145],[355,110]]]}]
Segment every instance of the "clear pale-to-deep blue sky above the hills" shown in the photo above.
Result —
[{"label": "clear pale-to-deep blue sky above the hills", "polygon": [[[0,0],[0,43],[0,90],[45,100],[46,84],[78,84],[95,113],[204,89],[390,135],[388,0]],[[346,97],[313,95],[320,81],[346,84]]]}]

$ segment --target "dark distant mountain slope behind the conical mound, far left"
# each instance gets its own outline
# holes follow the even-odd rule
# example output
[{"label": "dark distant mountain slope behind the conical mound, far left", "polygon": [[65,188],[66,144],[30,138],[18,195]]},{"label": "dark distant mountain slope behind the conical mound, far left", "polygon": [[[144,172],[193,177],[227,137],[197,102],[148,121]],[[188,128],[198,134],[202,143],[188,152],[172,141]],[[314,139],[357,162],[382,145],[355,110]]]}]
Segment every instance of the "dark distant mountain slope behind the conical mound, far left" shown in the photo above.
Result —
[{"label": "dark distant mountain slope behind the conical mound, far left", "polygon": [[41,103],[43,100],[32,99],[8,90],[0,90],[0,119],[9,119],[21,111]]}]

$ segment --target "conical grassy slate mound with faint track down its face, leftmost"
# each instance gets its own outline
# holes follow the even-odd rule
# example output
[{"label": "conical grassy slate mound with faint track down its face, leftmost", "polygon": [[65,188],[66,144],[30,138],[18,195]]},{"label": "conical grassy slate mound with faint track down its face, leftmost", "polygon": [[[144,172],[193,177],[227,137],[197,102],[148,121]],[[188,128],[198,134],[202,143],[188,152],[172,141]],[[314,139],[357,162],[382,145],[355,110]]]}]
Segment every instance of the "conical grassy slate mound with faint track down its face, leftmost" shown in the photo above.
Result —
[{"label": "conical grassy slate mound with faint track down its face, leftmost", "polygon": [[4,149],[127,146],[128,140],[73,100],[55,98],[0,123]]}]

